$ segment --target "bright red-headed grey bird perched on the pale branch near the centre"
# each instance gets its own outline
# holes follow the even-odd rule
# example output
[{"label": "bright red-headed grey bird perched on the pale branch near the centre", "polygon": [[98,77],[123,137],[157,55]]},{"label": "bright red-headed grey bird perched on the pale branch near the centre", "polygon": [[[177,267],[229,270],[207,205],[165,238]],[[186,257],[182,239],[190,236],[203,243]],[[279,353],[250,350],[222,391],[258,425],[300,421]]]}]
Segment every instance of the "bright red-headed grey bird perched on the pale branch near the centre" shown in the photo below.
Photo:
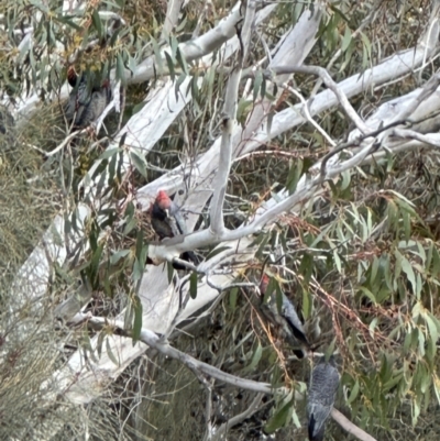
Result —
[{"label": "bright red-headed grey bird perched on the pale branch near the centre", "polygon": [[[180,212],[180,207],[169,199],[164,190],[157,192],[154,203],[150,208],[152,227],[160,239],[175,238],[176,235],[186,234],[188,232],[186,222]],[[193,262],[195,265],[199,263],[198,257],[193,251],[186,251],[180,258]],[[183,265],[173,264],[175,269],[185,269]]]}]

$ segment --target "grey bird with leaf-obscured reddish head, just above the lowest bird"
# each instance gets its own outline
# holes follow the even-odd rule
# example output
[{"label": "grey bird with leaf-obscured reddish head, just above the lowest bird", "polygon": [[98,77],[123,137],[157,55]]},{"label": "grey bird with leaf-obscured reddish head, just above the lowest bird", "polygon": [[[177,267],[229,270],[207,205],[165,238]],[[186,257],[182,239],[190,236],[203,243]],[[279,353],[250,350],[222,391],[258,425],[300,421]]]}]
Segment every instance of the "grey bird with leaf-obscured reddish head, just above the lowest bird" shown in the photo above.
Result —
[{"label": "grey bird with leaf-obscured reddish head, just above the lowest bird", "polygon": [[302,322],[299,320],[295,306],[287,298],[287,296],[282,293],[282,305],[279,310],[275,291],[272,293],[266,302],[263,304],[268,282],[270,278],[264,274],[260,284],[263,313],[274,326],[280,328],[283,333],[282,337],[292,345],[297,346],[299,343],[301,346],[305,346],[306,350],[308,350],[310,344],[307,340]]}]

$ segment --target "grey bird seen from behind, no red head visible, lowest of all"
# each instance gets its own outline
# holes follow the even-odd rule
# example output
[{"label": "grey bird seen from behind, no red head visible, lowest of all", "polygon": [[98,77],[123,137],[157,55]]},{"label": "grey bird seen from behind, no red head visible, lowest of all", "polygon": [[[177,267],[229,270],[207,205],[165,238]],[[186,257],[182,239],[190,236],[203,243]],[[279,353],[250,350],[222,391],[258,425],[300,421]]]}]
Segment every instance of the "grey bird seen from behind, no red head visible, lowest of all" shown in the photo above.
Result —
[{"label": "grey bird seen from behind, no red head visible, lowest of all", "polygon": [[326,421],[334,405],[339,379],[340,375],[333,356],[329,359],[328,363],[326,363],[326,357],[322,357],[311,371],[307,401],[310,441],[322,441],[323,439]]}]

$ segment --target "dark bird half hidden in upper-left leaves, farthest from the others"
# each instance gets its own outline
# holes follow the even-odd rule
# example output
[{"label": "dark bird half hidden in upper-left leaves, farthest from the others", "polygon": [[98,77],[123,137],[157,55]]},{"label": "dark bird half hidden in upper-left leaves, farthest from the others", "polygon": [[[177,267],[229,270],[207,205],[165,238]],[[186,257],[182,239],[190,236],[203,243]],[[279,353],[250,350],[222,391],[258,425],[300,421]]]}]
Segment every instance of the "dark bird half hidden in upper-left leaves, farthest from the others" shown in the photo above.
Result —
[{"label": "dark bird half hidden in upper-left leaves, farthest from the others", "polygon": [[101,87],[89,87],[85,75],[78,77],[70,66],[67,80],[74,88],[64,109],[67,122],[74,129],[84,129],[96,122],[111,101],[110,81],[105,80]]}]

